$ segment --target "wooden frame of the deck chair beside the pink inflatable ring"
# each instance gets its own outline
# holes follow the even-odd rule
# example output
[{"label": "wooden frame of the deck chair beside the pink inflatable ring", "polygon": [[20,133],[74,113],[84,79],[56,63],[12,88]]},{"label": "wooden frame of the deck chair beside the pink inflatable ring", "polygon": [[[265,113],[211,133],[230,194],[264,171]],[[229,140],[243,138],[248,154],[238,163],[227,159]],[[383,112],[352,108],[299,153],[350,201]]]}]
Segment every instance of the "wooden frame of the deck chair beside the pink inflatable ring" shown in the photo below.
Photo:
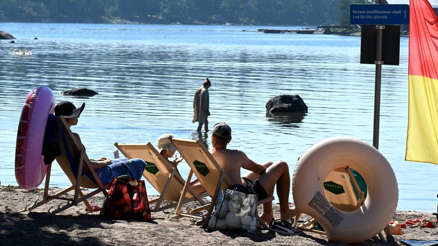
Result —
[{"label": "wooden frame of the deck chair beside the pink inflatable ring", "polygon": [[[92,164],[90,162],[90,159],[88,159],[87,154],[85,153],[85,150],[83,148],[82,145],[79,145],[76,137],[73,135],[73,133],[71,132],[70,128],[67,125],[67,122],[65,121],[63,116],[59,116],[57,119],[57,127],[64,127],[65,129],[65,134],[68,135],[66,137],[70,137],[70,139],[73,141],[73,145],[72,146],[75,150],[78,150],[78,153],[81,153],[79,156],[79,163],[78,163],[78,173],[76,174],[76,177],[78,177],[77,179],[72,180],[71,177],[69,177],[70,181],[71,181],[71,186],[56,193],[53,195],[49,195],[49,182],[50,182],[50,171],[52,168],[52,163],[50,163],[49,165],[47,165],[47,172],[46,172],[46,181],[44,184],[44,193],[42,196],[42,200],[36,200],[35,203],[31,206],[28,207],[30,204],[27,204],[26,207],[18,212],[24,212],[24,211],[30,211],[32,209],[35,209],[36,207],[39,207],[43,204],[48,203],[51,200],[64,200],[67,201],[67,204],[65,204],[64,206],[61,206],[61,204],[58,205],[58,207],[50,212],[50,210],[52,209],[49,208],[49,210],[47,211],[47,214],[57,214],[61,211],[66,210],[67,208],[73,207],[73,206],[77,206],[79,203],[83,202],[85,204],[85,207],[87,207],[88,211],[92,211],[92,207],[91,205],[88,203],[87,199],[102,192],[104,196],[106,196],[108,193],[106,192],[106,189],[109,188],[109,186],[111,186],[111,184],[107,184],[106,186],[102,185],[102,182],[100,181],[99,177],[97,176],[96,172],[94,171],[94,169],[92,168]],[[58,128],[59,129],[59,128]],[[61,144],[62,146],[64,146],[64,144]],[[65,146],[64,146],[65,148]],[[65,151],[64,149],[61,149],[61,151]],[[60,164],[61,165],[61,164]],[[67,164],[66,164],[67,165]],[[96,180],[97,184],[92,182],[90,179],[88,179],[87,176],[82,175],[82,171],[83,171],[83,167],[87,166],[89,171],[92,173],[92,176],[94,177],[94,179]],[[70,167],[70,164],[68,164],[68,166]],[[92,188],[95,189],[94,191],[84,195],[81,192],[81,182],[84,181],[85,179],[87,179],[87,183],[94,183],[94,187],[86,187],[86,188]],[[66,197],[62,197],[62,195],[64,195],[65,193],[74,190],[74,197],[72,198],[66,198]]]}]

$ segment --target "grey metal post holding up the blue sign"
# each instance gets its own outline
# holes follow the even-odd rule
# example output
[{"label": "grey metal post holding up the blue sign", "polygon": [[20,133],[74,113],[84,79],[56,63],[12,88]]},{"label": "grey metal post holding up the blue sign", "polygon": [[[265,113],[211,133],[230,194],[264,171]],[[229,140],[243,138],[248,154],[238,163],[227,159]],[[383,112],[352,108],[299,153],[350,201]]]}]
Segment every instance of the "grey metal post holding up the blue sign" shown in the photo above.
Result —
[{"label": "grey metal post holding up the blue sign", "polygon": [[[383,4],[383,0],[379,0]],[[377,49],[376,49],[376,78],[374,85],[374,127],[373,127],[373,146],[379,149],[379,127],[380,127],[380,85],[382,77],[382,42],[384,25],[376,25],[377,28]]]}]

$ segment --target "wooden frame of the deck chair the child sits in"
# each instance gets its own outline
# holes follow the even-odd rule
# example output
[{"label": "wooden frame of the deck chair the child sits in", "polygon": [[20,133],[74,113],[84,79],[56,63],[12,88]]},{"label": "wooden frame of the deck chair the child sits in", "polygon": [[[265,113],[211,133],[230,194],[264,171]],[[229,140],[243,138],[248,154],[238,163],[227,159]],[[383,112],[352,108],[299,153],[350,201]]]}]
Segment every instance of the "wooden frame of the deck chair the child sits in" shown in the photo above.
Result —
[{"label": "wooden frame of the deck chair the child sits in", "polygon": [[[116,146],[116,148],[126,158],[130,158],[130,159],[140,158],[140,159],[143,159],[144,161],[148,161],[147,160],[147,158],[148,158],[147,153],[148,153],[148,151],[151,151],[155,155],[155,157],[159,159],[159,162],[154,163],[154,164],[155,165],[162,165],[162,167],[164,167],[167,171],[169,171],[169,175],[167,176],[167,181],[166,181],[166,184],[164,185],[164,188],[162,190],[159,190],[154,186],[155,190],[157,190],[158,193],[160,193],[160,196],[158,198],[155,198],[155,199],[149,201],[149,204],[155,203],[155,207],[152,210],[152,212],[159,212],[159,211],[163,211],[163,210],[166,210],[169,208],[177,207],[178,203],[170,203],[168,201],[168,204],[166,204],[165,206],[161,206],[161,203],[163,200],[165,200],[166,192],[168,189],[171,188],[171,184],[172,184],[173,179],[176,179],[182,185],[181,187],[184,187],[186,182],[181,177],[181,175],[177,171],[177,169],[173,168],[150,142],[148,142],[147,144],[118,144],[117,142],[115,142],[114,146]],[[142,152],[142,154],[145,154],[145,156],[144,155],[130,154],[130,153],[128,153],[127,149],[140,150]],[[143,172],[143,177],[145,177],[145,179],[148,180],[149,183],[151,183],[151,184],[153,183],[151,180],[148,179],[146,170]],[[201,195],[198,195],[196,192],[194,192],[194,190],[191,187],[188,188],[188,192],[191,194],[192,197],[184,199],[183,204],[198,200],[198,202],[201,203],[201,205],[205,205],[205,201],[202,200],[202,198],[210,195],[209,193],[203,193]]]}]

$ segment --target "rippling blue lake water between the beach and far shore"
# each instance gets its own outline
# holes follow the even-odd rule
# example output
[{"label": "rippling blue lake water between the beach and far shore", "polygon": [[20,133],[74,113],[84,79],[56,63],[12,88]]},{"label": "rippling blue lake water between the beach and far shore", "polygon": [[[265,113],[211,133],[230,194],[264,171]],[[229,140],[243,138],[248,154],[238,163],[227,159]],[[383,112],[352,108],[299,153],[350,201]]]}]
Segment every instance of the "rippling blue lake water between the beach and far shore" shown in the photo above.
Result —
[{"label": "rippling blue lake water between the beach and far shore", "polygon": [[[0,42],[1,184],[17,185],[18,120],[26,95],[40,85],[51,88],[57,102],[85,102],[72,129],[90,158],[111,157],[116,141],[155,144],[164,133],[201,137],[211,148],[210,135],[196,133],[191,123],[193,94],[205,77],[212,81],[210,127],[229,123],[229,147],[255,162],[283,159],[292,174],[297,158],[324,138],[372,144],[375,66],[359,63],[360,37],[242,32],[258,28],[266,27],[1,23],[17,38]],[[33,55],[13,56],[14,48]],[[397,176],[398,209],[434,211],[438,166],[404,161],[407,64],[408,39],[402,38],[400,66],[383,66],[379,150]],[[99,95],[59,95],[78,87]],[[266,116],[269,98],[293,93],[309,107],[306,116]],[[179,169],[187,177],[187,164]],[[57,164],[50,185],[69,185]],[[148,186],[148,194],[157,193]]]}]

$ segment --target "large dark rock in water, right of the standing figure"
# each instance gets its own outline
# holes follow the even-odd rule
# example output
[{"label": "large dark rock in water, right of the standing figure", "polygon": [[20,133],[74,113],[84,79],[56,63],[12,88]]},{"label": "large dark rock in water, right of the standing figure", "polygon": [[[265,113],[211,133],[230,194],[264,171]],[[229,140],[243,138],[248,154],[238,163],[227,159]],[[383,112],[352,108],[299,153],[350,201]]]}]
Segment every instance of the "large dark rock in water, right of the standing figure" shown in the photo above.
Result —
[{"label": "large dark rock in water, right of the standing figure", "polygon": [[307,105],[297,94],[278,95],[266,103],[266,112],[269,113],[307,113]]}]

